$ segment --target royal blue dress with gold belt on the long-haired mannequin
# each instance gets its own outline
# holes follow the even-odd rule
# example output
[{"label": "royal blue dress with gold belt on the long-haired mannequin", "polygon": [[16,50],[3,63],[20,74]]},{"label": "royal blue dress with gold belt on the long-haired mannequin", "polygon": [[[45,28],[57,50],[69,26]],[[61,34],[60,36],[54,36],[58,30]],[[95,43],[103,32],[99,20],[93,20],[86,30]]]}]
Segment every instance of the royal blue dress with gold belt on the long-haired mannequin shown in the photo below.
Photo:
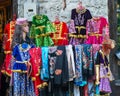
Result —
[{"label": "royal blue dress with gold belt on the long-haired mannequin", "polygon": [[34,86],[29,77],[29,49],[32,46],[23,43],[18,44],[13,49],[13,57],[15,62],[13,64],[13,95],[14,96],[35,96]]}]

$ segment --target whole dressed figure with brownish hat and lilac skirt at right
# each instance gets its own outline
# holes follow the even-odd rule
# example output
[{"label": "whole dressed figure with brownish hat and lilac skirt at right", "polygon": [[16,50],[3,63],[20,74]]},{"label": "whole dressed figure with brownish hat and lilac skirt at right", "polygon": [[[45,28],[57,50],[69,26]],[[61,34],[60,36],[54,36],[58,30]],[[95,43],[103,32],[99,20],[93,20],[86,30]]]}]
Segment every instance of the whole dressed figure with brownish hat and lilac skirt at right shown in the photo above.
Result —
[{"label": "whole dressed figure with brownish hat and lilac skirt at right", "polygon": [[104,39],[102,42],[102,48],[97,53],[96,58],[96,85],[99,87],[100,95],[111,93],[110,81],[114,80],[111,70],[108,55],[111,49],[115,47],[114,40],[109,38]]}]

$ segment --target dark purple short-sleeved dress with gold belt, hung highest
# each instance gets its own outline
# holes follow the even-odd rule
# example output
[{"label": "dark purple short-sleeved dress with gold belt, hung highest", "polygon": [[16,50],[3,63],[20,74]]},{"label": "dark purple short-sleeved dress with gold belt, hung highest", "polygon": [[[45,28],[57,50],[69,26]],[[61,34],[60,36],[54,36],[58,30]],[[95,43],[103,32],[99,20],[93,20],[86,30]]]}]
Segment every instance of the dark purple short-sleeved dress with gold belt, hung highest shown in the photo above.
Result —
[{"label": "dark purple short-sleeved dress with gold belt, hung highest", "polygon": [[88,9],[72,9],[71,19],[74,20],[76,33],[69,34],[69,37],[78,38],[79,44],[84,43],[86,39],[86,23],[91,18]]}]

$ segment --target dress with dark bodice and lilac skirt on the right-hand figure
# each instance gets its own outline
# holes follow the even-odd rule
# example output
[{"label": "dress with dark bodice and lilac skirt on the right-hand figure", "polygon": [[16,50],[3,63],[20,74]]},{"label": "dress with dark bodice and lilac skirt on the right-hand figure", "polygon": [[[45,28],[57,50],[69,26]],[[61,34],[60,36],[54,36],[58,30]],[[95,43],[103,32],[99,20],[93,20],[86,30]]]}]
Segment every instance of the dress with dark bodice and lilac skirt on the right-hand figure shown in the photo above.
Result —
[{"label": "dress with dark bodice and lilac skirt on the right-hand figure", "polygon": [[[104,55],[102,50],[99,50],[96,58],[96,66],[99,67],[99,91],[100,94],[111,93],[110,81],[113,80],[112,73],[110,71],[110,65],[107,57]],[[112,79],[111,79],[112,78]]]}]

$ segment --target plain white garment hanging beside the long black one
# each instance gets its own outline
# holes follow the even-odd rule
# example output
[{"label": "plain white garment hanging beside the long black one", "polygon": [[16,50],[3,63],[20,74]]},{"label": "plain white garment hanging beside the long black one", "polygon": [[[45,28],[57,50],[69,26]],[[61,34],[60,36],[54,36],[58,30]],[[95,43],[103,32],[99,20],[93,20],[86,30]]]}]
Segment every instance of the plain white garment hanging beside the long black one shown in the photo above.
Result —
[{"label": "plain white garment hanging beside the long black one", "polygon": [[69,81],[73,81],[76,74],[75,74],[75,62],[74,62],[72,45],[66,45],[65,48],[66,48],[66,55],[68,60]]}]

